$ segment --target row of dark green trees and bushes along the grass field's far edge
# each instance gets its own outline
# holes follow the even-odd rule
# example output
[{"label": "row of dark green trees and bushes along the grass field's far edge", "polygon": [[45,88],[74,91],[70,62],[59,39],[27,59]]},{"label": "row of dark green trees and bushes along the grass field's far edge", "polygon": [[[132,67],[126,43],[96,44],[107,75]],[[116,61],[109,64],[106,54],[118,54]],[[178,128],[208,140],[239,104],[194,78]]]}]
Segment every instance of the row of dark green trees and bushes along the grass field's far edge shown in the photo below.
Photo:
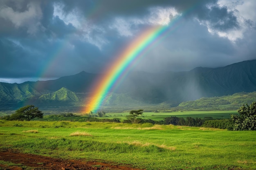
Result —
[{"label": "row of dark green trees and bushes along the grass field's far edge", "polygon": [[[193,117],[165,117],[164,120],[155,121],[152,119],[141,119],[139,116],[143,114],[143,109],[131,110],[129,115],[126,116],[126,120],[123,123],[131,124],[163,124],[169,125],[173,124],[176,126],[203,126],[209,128],[221,128],[228,130],[256,130],[256,102],[253,102],[251,105],[244,104],[238,109],[238,115],[231,115],[231,119],[215,119],[212,117],[193,118]],[[95,114],[96,115],[96,114]],[[73,117],[74,115],[65,114],[65,117]],[[98,111],[97,117],[105,117],[106,113],[104,111]],[[24,106],[16,110],[12,115],[2,117],[6,120],[20,120],[20,121],[29,121],[34,118],[43,118],[43,113],[38,110],[34,105]],[[109,121],[109,122],[121,122],[120,119],[97,119],[93,116],[92,112],[88,115],[87,118],[83,118],[79,121]]]}]

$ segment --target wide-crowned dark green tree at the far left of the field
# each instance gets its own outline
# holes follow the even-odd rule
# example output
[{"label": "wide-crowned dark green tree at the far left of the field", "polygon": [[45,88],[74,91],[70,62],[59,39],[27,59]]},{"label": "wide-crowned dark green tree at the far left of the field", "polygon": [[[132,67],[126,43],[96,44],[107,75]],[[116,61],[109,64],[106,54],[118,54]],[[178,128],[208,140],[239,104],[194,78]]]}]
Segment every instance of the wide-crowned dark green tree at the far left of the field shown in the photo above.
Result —
[{"label": "wide-crowned dark green tree at the far left of the field", "polygon": [[38,108],[34,107],[34,105],[27,105],[16,110],[16,112],[10,116],[9,120],[29,121],[35,117],[43,118],[43,113],[38,110]]}]

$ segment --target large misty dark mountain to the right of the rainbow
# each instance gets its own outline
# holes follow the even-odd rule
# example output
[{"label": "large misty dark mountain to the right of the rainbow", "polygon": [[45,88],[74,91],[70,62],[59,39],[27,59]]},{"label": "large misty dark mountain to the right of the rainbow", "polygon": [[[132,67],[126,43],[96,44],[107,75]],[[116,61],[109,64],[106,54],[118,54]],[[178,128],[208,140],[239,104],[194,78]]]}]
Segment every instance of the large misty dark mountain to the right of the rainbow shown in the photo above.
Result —
[{"label": "large misty dark mountain to the right of the rainbow", "polygon": [[256,91],[256,60],[177,73],[131,73],[117,90],[154,104],[253,92]]}]

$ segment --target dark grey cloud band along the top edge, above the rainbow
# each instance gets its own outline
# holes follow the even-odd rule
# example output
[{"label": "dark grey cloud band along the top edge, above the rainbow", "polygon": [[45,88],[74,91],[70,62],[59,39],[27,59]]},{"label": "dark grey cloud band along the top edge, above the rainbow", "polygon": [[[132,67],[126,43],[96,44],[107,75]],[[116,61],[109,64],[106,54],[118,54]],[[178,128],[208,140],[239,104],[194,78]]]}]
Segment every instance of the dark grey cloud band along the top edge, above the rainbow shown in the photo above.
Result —
[{"label": "dark grey cloud band along the top edge, above the rainbow", "polygon": [[[63,10],[66,13],[79,9],[85,17],[92,22],[104,22],[106,18],[117,16],[138,17],[149,13],[152,7],[175,7],[177,11],[204,9],[206,4],[216,4],[217,0],[56,0],[56,3],[64,4]],[[205,13],[203,13],[205,12]],[[209,10],[200,10],[201,15],[206,15]],[[197,13],[197,12],[195,12]]]}]

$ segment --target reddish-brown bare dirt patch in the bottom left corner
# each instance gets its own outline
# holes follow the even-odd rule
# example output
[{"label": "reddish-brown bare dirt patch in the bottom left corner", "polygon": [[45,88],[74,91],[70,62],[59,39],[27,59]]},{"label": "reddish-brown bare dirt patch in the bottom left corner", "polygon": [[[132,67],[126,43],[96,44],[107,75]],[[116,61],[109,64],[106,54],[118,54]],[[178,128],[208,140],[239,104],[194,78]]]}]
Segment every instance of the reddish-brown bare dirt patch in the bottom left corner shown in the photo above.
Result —
[{"label": "reddish-brown bare dirt patch in the bottom left corner", "polygon": [[[111,165],[102,162],[86,162],[81,160],[55,159],[33,154],[24,154],[13,151],[0,152],[0,160],[19,164],[8,166],[0,164],[0,169],[22,170],[22,166],[34,170],[139,170],[127,166]],[[114,163],[113,163],[114,164]]]}]

